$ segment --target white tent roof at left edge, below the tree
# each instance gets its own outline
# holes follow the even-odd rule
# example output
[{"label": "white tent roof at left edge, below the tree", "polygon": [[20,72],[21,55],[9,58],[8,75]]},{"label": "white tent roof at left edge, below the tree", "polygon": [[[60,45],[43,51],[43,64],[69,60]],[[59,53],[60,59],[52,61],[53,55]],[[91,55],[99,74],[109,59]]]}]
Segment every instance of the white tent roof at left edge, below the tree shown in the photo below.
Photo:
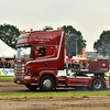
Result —
[{"label": "white tent roof at left edge, below the tree", "polygon": [[0,57],[12,58],[15,54],[15,50],[11,48],[9,45],[0,40]]}]

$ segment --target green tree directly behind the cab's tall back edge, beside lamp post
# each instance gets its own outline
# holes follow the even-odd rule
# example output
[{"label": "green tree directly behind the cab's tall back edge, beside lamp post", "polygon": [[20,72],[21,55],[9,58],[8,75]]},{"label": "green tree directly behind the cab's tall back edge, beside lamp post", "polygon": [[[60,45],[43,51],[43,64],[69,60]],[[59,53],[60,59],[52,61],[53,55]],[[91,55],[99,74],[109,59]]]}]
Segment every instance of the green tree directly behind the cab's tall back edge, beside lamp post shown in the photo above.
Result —
[{"label": "green tree directly behind the cab's tall back edge, beside lamp post", "polygon": [[76,51],[77,54],[82,54],[81,50],[86,47],[86,41],[82,38],[81,32],[75,30],[72,25],[64,25],[61,29],[65,31],[65,47],[67,55],[75,56]]}]

